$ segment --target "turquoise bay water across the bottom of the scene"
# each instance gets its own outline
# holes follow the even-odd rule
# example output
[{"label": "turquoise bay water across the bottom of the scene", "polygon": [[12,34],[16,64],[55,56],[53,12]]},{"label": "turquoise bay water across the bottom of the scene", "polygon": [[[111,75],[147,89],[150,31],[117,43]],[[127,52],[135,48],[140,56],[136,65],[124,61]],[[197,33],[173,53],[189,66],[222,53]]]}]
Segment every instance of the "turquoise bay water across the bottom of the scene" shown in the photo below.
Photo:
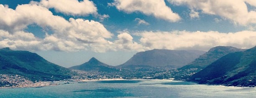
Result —
[{"label": "turquoise bay water across the bottom of the scene", "polygon": [[0,89],[0,98],[256,98],[256,88],[168,80],[110,80]]}]

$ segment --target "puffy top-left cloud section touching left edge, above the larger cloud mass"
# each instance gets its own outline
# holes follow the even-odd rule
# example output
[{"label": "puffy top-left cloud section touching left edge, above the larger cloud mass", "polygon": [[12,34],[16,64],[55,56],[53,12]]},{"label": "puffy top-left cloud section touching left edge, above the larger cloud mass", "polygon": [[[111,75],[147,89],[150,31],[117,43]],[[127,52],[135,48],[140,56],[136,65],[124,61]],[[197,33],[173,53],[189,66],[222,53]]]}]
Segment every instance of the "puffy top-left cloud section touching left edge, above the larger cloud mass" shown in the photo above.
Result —
[{"label": "puffy top-left cloud section touching left edge, above the larger cloud mass", "polygon": [[36,4],[18,5],[15,10],[0,5],[0,13],[0,24],[3,25],[0,26],[0,29],[7,30],[10,33],[23,30],[32,23],[41,27],[50,26],[54,30],[60,31],[69,26],[64,18],[55,16],[47,8]]}]

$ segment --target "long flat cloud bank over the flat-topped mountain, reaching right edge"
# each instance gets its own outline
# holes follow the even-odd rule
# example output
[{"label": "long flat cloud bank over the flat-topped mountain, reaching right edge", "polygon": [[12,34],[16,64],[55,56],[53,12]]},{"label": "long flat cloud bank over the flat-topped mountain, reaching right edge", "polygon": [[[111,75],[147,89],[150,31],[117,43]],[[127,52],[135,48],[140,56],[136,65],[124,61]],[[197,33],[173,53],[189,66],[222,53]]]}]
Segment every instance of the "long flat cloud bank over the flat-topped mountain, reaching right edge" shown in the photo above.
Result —
[{"label": "long flat cloud bank over the flat-topped mountain, reaching right edge", "polygon": [[145,31],[141,35],[141,45],[147,49],[195,49],[208,50],[214,46],[234,46],[251,48],[256,45],[256,32],[241,31],[236,33],[209,32],[152,32]]}]

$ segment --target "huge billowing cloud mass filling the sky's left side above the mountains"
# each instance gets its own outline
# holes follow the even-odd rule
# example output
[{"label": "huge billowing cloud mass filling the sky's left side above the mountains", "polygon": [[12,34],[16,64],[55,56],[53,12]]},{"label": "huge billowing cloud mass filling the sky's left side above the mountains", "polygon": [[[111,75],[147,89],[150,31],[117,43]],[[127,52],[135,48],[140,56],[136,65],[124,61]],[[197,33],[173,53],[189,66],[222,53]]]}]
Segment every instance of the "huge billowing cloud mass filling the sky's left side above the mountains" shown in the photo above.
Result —
[{"label": "huge billowing cloud mass filling the sky's left side above the mountains", "polygon": [[[107,39],[112,38],[113,34],[104,25],[93,20],[74,18],[65,20],[35,2],[18,5],[15,10],[0,5],[0,14],[1,47],[26,50],[28,46],[27,48],[31,48],[27,50],[93,50],[95,52],[112,49],[113,43]],[[46,33],[45,38],[42,39],[36,38],[33,33],[23,31],[30,24],[51,29],[53,33],[51,35]]]}]

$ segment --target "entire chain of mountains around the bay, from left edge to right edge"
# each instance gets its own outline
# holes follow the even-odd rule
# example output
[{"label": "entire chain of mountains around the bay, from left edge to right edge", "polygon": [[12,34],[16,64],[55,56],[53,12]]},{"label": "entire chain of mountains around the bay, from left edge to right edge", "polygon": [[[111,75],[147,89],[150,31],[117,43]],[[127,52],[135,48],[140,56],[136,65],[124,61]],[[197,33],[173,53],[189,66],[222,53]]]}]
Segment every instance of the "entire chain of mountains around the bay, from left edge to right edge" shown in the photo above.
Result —
[{"label": "entire chain of mountains around the bay, from left edge to right edge", "polygon": [[[178,69],[163,72],[175,68]],[[136,53],[119,66],[107,65],[91,58],[88,62],[69,69],[50,63],[36,53],[0,49],[0,74],[17,74],[33,81],[63,80],[76,74],[70,69],[128,79],[155,76],[189,79],[201,84],[253,87],[256,85],[256,47],[244,50],[218,46],[206,53],[197,50],[154,49]]]}]

